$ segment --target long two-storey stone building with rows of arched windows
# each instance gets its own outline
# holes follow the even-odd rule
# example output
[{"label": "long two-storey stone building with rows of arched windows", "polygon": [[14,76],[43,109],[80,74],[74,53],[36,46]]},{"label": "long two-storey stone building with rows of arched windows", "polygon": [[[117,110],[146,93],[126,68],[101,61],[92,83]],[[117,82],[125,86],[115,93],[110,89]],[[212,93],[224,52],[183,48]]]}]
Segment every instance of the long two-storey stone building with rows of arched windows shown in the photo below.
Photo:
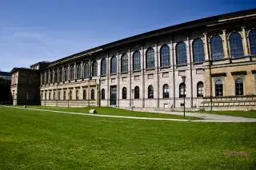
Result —
[{"label": "long two-storey stone building with rows of arched windows", "polygon": [[[186,108],[256,109],[255,26],[255,9],[222,14],[39,62],[26,73],[40,77],[41,105],[178,109],[185,97]],[[12,71],[14,98],[20,71]]]}]

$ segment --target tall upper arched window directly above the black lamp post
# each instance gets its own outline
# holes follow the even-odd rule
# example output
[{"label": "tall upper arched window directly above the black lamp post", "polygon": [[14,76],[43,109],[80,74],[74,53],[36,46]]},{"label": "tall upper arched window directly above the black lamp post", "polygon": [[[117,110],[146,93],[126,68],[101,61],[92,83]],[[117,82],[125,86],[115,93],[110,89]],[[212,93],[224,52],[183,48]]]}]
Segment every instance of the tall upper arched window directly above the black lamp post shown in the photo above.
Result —
[{"label": "tall upper arched window directly above the black lamp post", "polygon": [[176,56],[177,65],[185,65],[187,63],[185,42],[178,42],[176,45]]}]

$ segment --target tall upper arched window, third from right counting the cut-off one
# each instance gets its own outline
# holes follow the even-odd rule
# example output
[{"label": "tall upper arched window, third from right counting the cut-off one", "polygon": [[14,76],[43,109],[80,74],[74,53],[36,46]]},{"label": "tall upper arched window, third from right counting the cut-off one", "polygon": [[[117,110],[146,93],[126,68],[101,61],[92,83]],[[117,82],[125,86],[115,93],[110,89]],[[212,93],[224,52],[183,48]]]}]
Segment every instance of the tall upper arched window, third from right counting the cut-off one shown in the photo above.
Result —
[{"label": "tall upper arched window, third from right counting the cut-off one", "polygon": [[220,36],[214,35],[212,38],[210,38],[210,51],[211,59],[213,61],[224,58],[222,38]]}]

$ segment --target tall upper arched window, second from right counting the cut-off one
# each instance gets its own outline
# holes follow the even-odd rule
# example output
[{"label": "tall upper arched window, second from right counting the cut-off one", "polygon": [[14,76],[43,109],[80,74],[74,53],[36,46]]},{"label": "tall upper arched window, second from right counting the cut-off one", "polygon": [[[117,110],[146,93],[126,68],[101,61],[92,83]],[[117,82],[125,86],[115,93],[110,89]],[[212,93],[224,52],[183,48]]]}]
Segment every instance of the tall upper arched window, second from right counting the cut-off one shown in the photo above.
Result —
[{"label": "tall upper arched window, second from right counting the cut-off one", "polygon": [[230,34],[231,57],[243,57],[242,37],[237,32]]}]

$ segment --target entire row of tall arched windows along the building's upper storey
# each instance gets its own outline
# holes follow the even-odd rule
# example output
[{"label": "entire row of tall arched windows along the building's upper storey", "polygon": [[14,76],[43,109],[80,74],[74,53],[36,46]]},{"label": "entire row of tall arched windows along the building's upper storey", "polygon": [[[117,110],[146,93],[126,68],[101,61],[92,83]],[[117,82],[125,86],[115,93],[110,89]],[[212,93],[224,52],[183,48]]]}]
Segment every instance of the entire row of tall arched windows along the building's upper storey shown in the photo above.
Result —
[{"label": "entire row of tall arched windows along the building's upper storey", "polygon": [[[244,50],[242,45],[242,36],[238,32],[234,32],[229,36],[230,41],[230,56],[233,58],[236,57],[243,57]],[[251,55],[256,55],[256,29],[250,30],[249,33],[249,42],[250,42],[250,53]],[[205,50],[204,50],[204,43],[202,39],[197,38],[192,43],[193,47],[193,61],[194,63],[200,63],[205,61]],[[212,61],[218,61],[224,59],[224,49],[222,38],[219,35],[214,35],[210,38],[210,54]],[[135,51],[132,57],[132,70],[139,71],[141,70],[141,53],[139,51]],[[110,74],[115,74],[118,72],[117,69],[117,57],[110,58]],[[176,45],[176,63],[177,65],[186,65],[187,64],[187,48],[185,42],[178,42]],[[121,73],[128,72],[128,55],[126,53],[122,54],[121,57]],[[160,67],[168,67],[170,66],[170,47],[169,45],[162,45],[160,49]],[[155,53],[154,49],[150,47],[146,49],[146,69],[154,69],[155,68]],[[83,75],[82,75],[82,65],[79,64],[77,67],[77,79],[82,77],[88,78],[89,77],[89,64],[86,63],[84,65]],[[65,69],[64,80],[69,80],[69,69]],[[54,71],[56,73],[55,81],[57,81],[58,72],[57,70]],[[106,58],[103,58],[101,61],[101,68],[100,68],[101,76],[106,75]],[[49,75],[47,76],[46,73],[46,82],[52,82],[53,76],[52,72],[50,72],[50,80]],[[98,68],[97,68],[97,61],[93,62],[92,65],[92,76],[97,76]],[[59,81],[62,81],[62,70],[59,70]],[[70,67],[70,80],[74,80],[74,66]],[[44,82],[44,81],[43,81]]]}]

